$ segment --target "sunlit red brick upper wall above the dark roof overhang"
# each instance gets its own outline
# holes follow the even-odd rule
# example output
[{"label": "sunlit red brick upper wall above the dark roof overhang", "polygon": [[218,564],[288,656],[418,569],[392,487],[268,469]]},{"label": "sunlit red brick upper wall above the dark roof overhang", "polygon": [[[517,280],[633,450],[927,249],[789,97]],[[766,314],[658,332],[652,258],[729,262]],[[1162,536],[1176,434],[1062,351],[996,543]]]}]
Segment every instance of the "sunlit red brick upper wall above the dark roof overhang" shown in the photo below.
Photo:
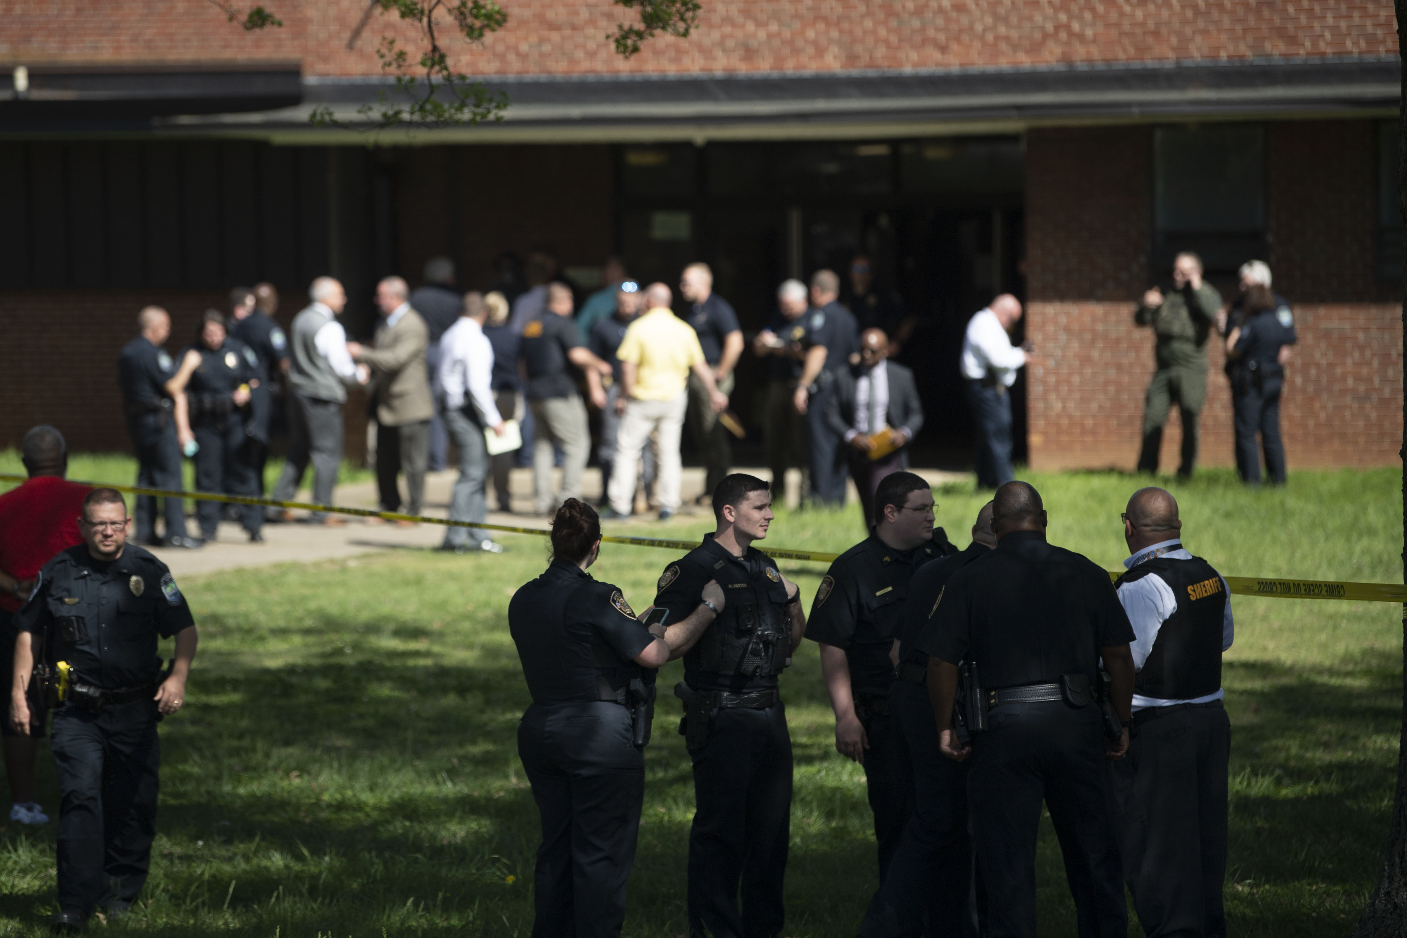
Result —
[{"label": "sunlit red brick upper wall above the dark roof overhang", "polygon": [[[217,7],[191,0],[72,0],[62,11],[53,4],[14,4],[0,21],[0,60],[301,59],[310,75],[380,75],[374,55],[380,37],[415,38],[381,13],[357,34],[366,0],[263,6],[283,20],[283,28],[246,34]],[[605,37],[635,17],[608,0],[502,6],[508,27],[481,48],[450,44],[453,52],[463,51],[460,69],[765,72],[1397,52],[1393,8],[1383,0],[705,0],[689,39],[654,39],[630,60],[615,55]]]}]

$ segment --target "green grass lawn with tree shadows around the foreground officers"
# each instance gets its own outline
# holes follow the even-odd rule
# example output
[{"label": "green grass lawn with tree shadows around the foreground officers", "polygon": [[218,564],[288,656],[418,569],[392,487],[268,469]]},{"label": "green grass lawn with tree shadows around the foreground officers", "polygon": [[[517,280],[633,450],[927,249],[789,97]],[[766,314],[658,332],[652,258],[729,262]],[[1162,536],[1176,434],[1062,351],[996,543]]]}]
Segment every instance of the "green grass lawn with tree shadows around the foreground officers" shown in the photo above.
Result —
[{"label": "green grass lawn with tree shadows around the foreground officers", "polygon": [[[83,465],[75,460],[75,477]],[[1051,540],[1117,567],[1119,512],[1137,480],[1030,478],[1045,495]],[[1209,471],[1173,491],[1189,547],[1224,574],[1401,582],[1400,485],[1387,470],[1299,473],[1286,489],[1245,491]],[[985,499],[965,487],[937,495],[938,523],[965,546]],[[705,526],[629,530],[680,537]],[[857,510],[782,513],[763,547],[839,551],[861,533]],[[516,757],[528,693],[505,613],[514,589],[545,567],[546,544],[505,541],[512,553],[498,557],[405,550],[183,581],[201,653],[187,707],[162,724],[160,833],[145,899],[113,931],[528,935],[537,814]],[[606,546],[592,572],[640,609],[670,560]],[[781,565],[809,605],[822,567]],[[1231,934],[1346,935],[1387,833],[1401,609],[1245,596],[1233,606]],[[680,671],[668,665],[660,686]],[[862,771],[833,747],[813,643],[782,688],[796,752],[784,934],[853,935],[875,887],[874,840]],[[661,699],[632,937],[687,931],[692,783],[678,716],[678,702]],[[46,755],[41,800],[58,803]],[[1048,824],[1038,863],[1041,934],[1074,935]],[[44,934],[53,824],[3,830],[0,883],[0,935]],[[1141,934],[1137,924],[1130,934]]]}]

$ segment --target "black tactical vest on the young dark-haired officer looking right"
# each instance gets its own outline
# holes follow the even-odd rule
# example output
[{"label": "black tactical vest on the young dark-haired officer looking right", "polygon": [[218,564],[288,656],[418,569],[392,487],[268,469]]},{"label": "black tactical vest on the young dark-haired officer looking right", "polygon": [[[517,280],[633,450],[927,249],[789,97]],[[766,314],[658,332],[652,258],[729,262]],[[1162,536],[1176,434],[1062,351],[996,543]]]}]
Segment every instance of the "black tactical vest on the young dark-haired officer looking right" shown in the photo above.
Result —
[{"label": "black tactical vest on the young dark-haired officer looking right", "polygon": [[741,564],[722,561],[696,550],[685,561],[708,564],[709,578],[723,588],[723,615],[715,619],[685,655],[689,671],[725,678],[741,674],[764,678],[791,664],[791,624],[787,586],[772,564],[749,577]]}]

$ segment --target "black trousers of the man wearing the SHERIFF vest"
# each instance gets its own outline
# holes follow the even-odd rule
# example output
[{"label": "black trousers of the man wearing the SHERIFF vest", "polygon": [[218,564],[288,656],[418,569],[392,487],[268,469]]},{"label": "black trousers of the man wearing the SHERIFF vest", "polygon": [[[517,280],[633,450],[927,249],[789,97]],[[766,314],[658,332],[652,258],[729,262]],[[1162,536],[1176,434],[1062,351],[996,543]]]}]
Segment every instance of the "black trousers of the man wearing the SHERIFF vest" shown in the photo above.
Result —
[{"label": "black trousers of the man wearing the SHERIFF vest", "polygon": [[[1137,714],[1135,714],[1137,717]],[[1221,938],[1231,721],[1220,703],[1137,721],[1112,764],[1124,880],[1148,938]]]}]

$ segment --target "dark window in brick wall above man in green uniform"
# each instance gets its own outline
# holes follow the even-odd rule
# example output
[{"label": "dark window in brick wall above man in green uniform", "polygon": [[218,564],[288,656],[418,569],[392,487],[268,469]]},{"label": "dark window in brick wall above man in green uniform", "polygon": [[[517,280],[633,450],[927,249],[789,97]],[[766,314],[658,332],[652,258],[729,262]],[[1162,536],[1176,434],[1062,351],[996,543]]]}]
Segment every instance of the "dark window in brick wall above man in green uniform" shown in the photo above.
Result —
[{"label": "dark window in brick wall above man in green uniform", "polygon": [[1207,273],[1223,274],[1265,256],[1265,132],[1259,125],[1154,131],[1154,276],[1166,276],[1180,250],[1197,252]]}]

